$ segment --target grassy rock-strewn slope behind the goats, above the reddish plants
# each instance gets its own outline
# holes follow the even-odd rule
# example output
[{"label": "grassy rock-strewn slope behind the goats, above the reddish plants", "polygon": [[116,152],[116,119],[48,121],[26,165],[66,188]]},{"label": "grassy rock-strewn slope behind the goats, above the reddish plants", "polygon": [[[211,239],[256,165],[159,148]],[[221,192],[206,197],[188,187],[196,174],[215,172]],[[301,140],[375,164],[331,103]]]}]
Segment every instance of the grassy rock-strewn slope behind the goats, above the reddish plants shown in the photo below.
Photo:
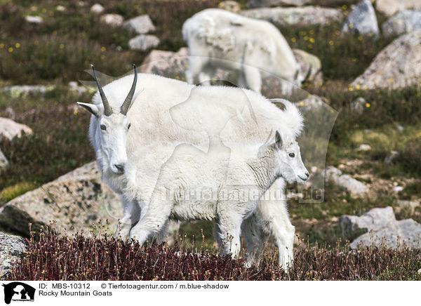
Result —
[{"label": "grassy rock-strewn slope behind the goats, above the reddish plants", "polygon": [[[303,152],[313,177],[325,176],[326,191],[323,203],[290,199],[297,242],[329,247],[348,239],[353,248],[377,237],[390,248],[408,239],[411,247],[420,247],[417,1],[128,0],[117,5],[75,0],[65,6],[2,1],[0,231],[5,234],[0,243],[8,248],[0,250],[1,265],[23,250],[25,242],[9,234],[28,237],[28,223],[35,231],[51,222],[60,232],[114,230],[119,199],[91,163],[89,117],[74,105],[89,101],[95,89],[78,80],[91,81],[83,73],[91,62],[109,76],[125,74],[135,62],[142,72],[185,79],[188,53],[181,25],[208,7],[273,22],[293,48],[300,74],[307,76],[288,98],[309,123],[326,120],[317,117],[321,105],[338,112],[326,173],[323,165],[312,164],[312,151],[320,154],[319,149]],[[215,79],[235,83],[235,76],[222,70]],[[263,93],[287,94],[282,82],[270,77]],[[309,128],[302,147],[316,136]],[[191,237],[201,237],[201,230],[205,241],[194,242]],[[211,233],[208,222],[180,229],[186,248],[213,246]]]}]

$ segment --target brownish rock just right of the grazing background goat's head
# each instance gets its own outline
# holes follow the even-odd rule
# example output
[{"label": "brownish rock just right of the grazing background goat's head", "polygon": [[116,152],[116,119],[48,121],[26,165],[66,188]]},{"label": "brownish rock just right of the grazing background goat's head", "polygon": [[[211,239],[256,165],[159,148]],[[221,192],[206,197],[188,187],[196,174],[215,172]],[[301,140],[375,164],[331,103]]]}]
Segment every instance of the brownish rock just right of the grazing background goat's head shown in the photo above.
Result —
[{"label": "brownish rock just right of the grazing background goat's head", "polygon": [[321,61],[316,55],[312,55],[299,49],[293,49],[295,60],[300,65],[298,79],[307,83],[321,85],[323,83],[323,73],[321,72]]}]

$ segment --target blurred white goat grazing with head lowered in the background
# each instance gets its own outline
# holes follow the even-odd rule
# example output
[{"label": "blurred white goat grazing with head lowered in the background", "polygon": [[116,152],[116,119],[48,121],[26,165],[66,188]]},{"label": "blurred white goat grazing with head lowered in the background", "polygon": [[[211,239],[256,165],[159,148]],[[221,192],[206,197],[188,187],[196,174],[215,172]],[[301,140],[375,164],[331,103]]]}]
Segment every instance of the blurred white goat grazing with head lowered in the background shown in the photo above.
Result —
[{"label": "blurred white goat grazing with head lowered in the background", "polygon": [[293,51],[270,22],[208,8],[187,19],[182,34],[189,47],[187,83],[206,83],[218,67],[239,72],[240,87],[260,93],[262,72],[300,85]]}]

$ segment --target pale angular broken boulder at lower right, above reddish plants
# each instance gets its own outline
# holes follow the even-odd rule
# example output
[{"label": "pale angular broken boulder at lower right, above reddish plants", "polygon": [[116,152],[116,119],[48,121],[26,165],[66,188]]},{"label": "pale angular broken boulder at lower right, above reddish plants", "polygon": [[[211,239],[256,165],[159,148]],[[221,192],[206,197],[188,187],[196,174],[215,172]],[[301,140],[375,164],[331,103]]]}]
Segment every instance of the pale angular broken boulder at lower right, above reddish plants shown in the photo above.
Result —
[{"label": "pale angular broken boulder at lower right, above reddish plants", "polygon": [[342,215],[338,222],[347,237],[364,232],[352,241],[351,248],[371,245],[421,248],[421,225],[412,219],[396,220],[392,207],[373,208],[361,216]]}]

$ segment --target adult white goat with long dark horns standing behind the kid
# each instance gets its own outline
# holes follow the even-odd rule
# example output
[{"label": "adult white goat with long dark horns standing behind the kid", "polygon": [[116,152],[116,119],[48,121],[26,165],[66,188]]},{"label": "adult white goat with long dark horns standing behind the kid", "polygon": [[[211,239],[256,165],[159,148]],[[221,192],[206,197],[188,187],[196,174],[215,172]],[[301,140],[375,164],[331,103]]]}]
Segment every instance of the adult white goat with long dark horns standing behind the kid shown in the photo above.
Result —
[{"label": "adult white goat with long dark horns standing behind the kid", "polygon": [[[282,100],[282,111],[254,91],[197,87],[137,73],[134,80],[133,76],[124,76],[102,88],[94,75],[99,91],[93,104],[78,104],[92,114],[89,136],[102,177],[119,194],[126,188],[123,172],[128,159],[135,150],[154,142],[173,143],[174,147],[182,142],[207,148],[215,138],[223,142],[263,143],[274,131],[295,140],[302,130],[302,116],[292,103]],[[308,178],[308,173],[301,175],[302,179]],[[279,178],[267,192],[276,194],[284,184]],[[122,202],[124,216],[121,231],[116,234],[126,237],[139,220],[139,215],[133,213],[138,205],[125,197]],[[290,265],[295,229],[283,196],[260,201],[255,213],[243,222],[242,232],[248,241],[249,263],[258,262],[272,234],[279,247],[280,264],[284,268]]]}]

